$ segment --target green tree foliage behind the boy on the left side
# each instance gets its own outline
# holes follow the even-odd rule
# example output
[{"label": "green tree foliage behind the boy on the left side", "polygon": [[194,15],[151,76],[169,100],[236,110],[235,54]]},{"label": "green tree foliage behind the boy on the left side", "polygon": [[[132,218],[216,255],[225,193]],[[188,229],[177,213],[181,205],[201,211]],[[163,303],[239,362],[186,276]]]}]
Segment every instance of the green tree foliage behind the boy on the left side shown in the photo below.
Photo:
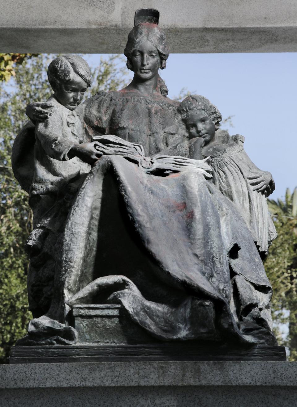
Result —
[{"label": "green tree foliage behind the boy on the left side", "polygon": [[[47,66],[55,55],[31,55],[16,65],[9,84],[0,82],[0,363],[8,360],[9,348],[26,333],[31,313],[27,310],[28,257],[24,243],[32,228],[32,212],[25,193],[13,177],[13,140],[28,121],[30,102],[46,101],[51,94]],[[20,59],[18,60],[20,61]],[[117,90],[125,85],[126,68],[121,57],[101,59],[93,70],[93,87]]]}]

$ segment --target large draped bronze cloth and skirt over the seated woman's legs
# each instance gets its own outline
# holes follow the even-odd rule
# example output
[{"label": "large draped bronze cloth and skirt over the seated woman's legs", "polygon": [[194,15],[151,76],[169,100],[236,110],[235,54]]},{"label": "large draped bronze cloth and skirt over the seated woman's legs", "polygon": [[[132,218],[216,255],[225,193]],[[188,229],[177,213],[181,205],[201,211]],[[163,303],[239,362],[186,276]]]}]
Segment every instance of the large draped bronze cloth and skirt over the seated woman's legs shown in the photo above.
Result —
[{"label": "large draped bronze cloth and skirt over the seated woman's legs", "polygon": [[111,283],[107,300],[158,339],[275,343],[272,289],[253,237],[199,173],[157,177],[120,156],[100,159],[69,214],[48,315],[67,320],[73,295],[109,275],[131,284]]}]

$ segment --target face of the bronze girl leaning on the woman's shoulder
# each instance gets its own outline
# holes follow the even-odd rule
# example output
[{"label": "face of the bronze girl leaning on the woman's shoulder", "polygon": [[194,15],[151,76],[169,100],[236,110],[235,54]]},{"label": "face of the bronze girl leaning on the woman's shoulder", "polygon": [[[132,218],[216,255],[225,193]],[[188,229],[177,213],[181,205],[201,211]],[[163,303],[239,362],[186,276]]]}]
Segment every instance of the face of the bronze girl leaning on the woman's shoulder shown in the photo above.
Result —
[{"label": "face of the bronze girl leaning on the woman's shoulder", "polygon": [[204,139],[204,145],[208,144],[215,135],[215,124],[204,110],[189,112],[185,123],[189,138],[201,137]]}]

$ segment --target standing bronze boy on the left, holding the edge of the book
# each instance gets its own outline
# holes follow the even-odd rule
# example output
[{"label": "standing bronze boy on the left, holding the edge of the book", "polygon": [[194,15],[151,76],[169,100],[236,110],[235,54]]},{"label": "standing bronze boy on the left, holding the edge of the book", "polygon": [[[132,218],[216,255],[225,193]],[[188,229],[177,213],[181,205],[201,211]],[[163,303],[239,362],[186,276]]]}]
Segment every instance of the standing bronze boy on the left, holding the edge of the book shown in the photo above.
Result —
[{"label": "standing bronze boy on the left, holding the edge of the book", "polygon": [[62,55],[49,64],[47,74],[54,92],[46,102],[47,114],[34,116],[32,112],[38,112],[38,107],[32,105],[26,111],[33,122],[35,119],[29,189],[33,232],[26,243],[30,254],[29,309],[33,317],[43,315],[49,307],[64,222],[90,164],[102,155],[96,150],[98,143],[87,142],[83,122],[75,113],[91,85],[89,65],[78,55]]}]

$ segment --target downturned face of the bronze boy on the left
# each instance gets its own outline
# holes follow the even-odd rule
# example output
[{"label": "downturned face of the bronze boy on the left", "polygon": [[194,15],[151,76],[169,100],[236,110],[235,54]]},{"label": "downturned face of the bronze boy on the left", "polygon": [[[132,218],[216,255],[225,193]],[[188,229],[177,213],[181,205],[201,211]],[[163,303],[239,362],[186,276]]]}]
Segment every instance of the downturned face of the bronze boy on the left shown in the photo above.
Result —
[{"label": "downturned face of the bronze boy on the left", "polygon": [[72,111],[81,103],[87,88],[86,82],[73,72],[69,81],[57,86],[55,96],[61,105]]}]

